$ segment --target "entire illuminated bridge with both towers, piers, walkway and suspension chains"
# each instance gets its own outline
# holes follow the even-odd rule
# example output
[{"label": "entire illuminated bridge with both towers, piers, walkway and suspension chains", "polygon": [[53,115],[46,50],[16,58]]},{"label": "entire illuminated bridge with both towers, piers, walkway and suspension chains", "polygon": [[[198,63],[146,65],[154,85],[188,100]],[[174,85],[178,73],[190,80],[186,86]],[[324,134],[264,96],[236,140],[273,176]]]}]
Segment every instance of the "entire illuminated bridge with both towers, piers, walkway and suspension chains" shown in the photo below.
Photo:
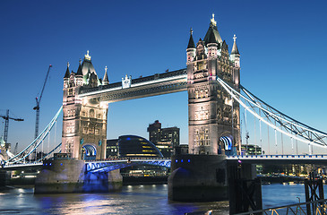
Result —
[{"label": "entire illuminated bridge with both towers, piers, walkway and suspension chains", "polygon": [[[237,37],[233,37],[229,54],[227,42],[221,39],[214,17],[204,39],[199,39],[196,44],[191,30],[186,48],[186,69],[156,73],[137,79],[126,75],[122,82],[110,83],[107,67],[103,79],[100,79],[88,51],[83,62],[80,60],[76,73],[73,73],[70,64],[67,64],[64,77],[63,131],[60,147],[61,152],[70,159],[51,161],[53,165],[44,168],[38,177],[36,193],[82,192],[84,182],[88,185],[98,185],[109,181],[112,187],[121,185],[121,176],[117,169],[135,162],[141,164],[145,160],[129,163],[129,160],[116,163],[100,161],[106,158],[108,104],[184,90],[188,92],[189,153],[171,159],[169,199],[226,199],[228,181],[237,177],[253,178],[252,164],[255,162],[315,160],[314,162],[324,163],[324,156],[282,157],[284,153],[270,153],[268,157],[241,156],[241,111],[245,113],[245,120],[248,112],[258,122],[261,146],[262,124],[273,131],[276,148],[279,147],[278,133],[281,133],[281,140],[284,136],[289,138],[292,148],[293,141],[307,144],[309,155],[312,154],[312,145],[326,148],[327,133],[300,123],[255,97],[240,84],[240,68]],[[22,162],[31,151],[36,150],[55,124],[58,113],[28,148],[6,160],[6,163]],[[283,146],[280,148],[283,151]],[[85,165],[84,160],[90,159],[97,161],[87,161]],[[244,161],[241,169],[237,168],[238,160]],[[158,161],[157,165],[161,163]],[[167,161],[165,165],[168,163]],[[57,185],[56,190],[50,186],[53,184]],[[89,188],[88,190],[90,191]]]}]

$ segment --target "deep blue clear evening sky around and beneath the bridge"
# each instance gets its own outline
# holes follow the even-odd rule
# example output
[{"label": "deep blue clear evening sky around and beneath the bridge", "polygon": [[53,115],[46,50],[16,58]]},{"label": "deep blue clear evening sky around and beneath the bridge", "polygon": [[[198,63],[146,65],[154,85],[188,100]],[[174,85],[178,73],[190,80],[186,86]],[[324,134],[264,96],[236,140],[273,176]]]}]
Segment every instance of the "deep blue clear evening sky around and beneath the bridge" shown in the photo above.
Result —
[{"label": "deep blue clear evening sky around and beneath the bridge", "polygon": [[[326,132],[326,10],[325,1],[4,0],[0,115],[10,109],[25,119],[10,122],[8,142],[19,142],[22,149],[33,139],[32,107],[48,64],[53,68],[40,105],[40,130],[62,104],[67,61],[76,71],[90,50],[101,77],[108,66],[110,82],[120,82],[126,73],[136,78],[184,68],[189,29],[195,42],[203,39],[211,13],[229,49],[237,34],[241,83],[271,106]],[[110,104],[108,139],[128,133],[148,137],[147,126],[159,119],[163,126],[181,127],[181,142],[187,143],[187,117],[186,92]]]}]

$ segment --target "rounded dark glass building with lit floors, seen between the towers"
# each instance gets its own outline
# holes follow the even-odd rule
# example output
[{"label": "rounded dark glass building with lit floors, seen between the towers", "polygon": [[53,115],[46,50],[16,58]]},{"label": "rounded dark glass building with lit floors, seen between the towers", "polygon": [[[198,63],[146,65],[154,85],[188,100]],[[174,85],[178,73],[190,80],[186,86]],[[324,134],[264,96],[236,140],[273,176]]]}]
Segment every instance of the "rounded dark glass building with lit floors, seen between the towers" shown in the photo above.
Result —
[{"label": "rounded dark glass building with lit floors, seen between the towers", "polygon": [[120,136],[118,146],[120,157],[163,157],[152,142],[140,136]]}]

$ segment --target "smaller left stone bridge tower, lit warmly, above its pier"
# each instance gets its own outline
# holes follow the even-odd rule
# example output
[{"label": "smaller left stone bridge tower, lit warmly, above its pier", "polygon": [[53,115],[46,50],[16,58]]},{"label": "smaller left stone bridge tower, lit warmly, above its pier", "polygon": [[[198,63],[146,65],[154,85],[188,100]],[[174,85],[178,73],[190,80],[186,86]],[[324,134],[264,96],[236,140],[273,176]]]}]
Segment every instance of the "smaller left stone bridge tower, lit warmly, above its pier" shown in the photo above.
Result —
[{"label": "smaller left stone bridge tower, lit warmly, above its pier", "polygon": [[[82,63],[82,64],[81,64]],[[98,78],[89,51],[77,73],[64,77],[62,152],[72,159],[104,159],[106,157],[108,104],[99,99],[79,98],[79,91],[108,84],[107,68],[104,80]]]}]

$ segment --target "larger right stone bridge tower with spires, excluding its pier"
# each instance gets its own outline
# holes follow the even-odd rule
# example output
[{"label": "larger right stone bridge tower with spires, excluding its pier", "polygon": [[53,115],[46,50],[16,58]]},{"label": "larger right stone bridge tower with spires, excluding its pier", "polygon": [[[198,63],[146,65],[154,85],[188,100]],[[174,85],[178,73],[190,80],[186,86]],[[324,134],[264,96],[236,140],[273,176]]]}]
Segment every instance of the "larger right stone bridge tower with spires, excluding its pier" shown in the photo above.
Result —
[{"label": "larger right stone bridge tower with spires, excluding its pier", "polygon": [[212,19],[204,39],[194,44],[193,31],[186,49],[190,154],[230,154],[240,151],[239,105],[216,77],[238,90],[240,55],[236,36],[232,52]]}]

